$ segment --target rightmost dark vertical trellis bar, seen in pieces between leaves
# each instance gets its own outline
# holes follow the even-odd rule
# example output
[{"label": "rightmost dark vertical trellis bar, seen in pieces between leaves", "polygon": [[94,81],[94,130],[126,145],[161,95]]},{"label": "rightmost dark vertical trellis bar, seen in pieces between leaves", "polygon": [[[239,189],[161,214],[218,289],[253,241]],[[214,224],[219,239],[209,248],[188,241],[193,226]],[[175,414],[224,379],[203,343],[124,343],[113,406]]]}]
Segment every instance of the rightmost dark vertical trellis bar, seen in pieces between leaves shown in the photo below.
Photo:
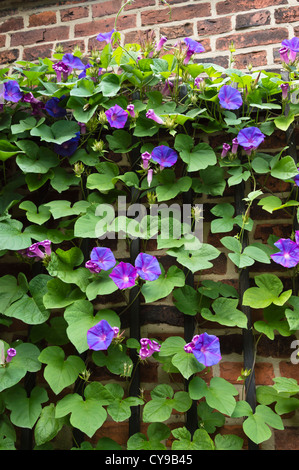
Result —
[{"label": "rightmost dark vertical trellis bar, seen in pieces between leaves", "polygon": [[[236,215],[242,215],[245,213],[246,207],[244,203],[244,181],[236,186],[235,188],[235,207]],[[248,245],[248,234],[244,231],[243,246],[244,249]],[[249,270],[248,268],[242,268],[239,273],[239,294],[242,302],[244,292],[250,287],[249,283]],[[255,391],[255,344],[254,336],[252,332],[252,321],[251,321],[251,310],[250,307],[241,304],[241,310],[247,317],[247,328],[243,329],[243,355],[244,355],[244,368],[251,370],[250,376],[245,380],[245,391],[246,401],[251,406],[253,412],[256,408],[256,391]],[[257,444],[248,439],[248,449],[258,450]]]}]

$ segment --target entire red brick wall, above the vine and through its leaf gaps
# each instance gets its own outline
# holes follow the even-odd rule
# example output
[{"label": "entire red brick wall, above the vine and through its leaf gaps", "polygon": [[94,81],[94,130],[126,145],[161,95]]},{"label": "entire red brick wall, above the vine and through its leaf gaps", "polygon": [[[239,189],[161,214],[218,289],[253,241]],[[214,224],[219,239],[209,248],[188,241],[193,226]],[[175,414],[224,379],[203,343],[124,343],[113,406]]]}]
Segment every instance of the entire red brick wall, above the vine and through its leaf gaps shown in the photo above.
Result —
[{"label": "entire red brick wall, above the vine and through its leaf gaps", "polygon": [[[33,5],[34,3],[34,5]],[[227,66],[229,60],[229,46],[231,40],[236,47],[236,67],[245,68],[249,63],[259,68],[279,68],[280,43],[283,39],[292,38],[299,34],[299,1],[298,0],[170,0],[172,15],[169,18],[169,9],[159,0],[136,0],[126,8],[120,16],[118,30],[123,34],[124,42],[138,40],[137,33],[154,30],[157,38],[166,35],[170,42],[186,36],[200,40],[206,52],[201,59],[207,62],[216,62]],[[0,1],[0,63],[3,65],[13,63],[15,60],[36,60],[38,57],[47,57],[57,44],[63,44],[65,51],[71,51],[75,45],[88,52],[92,47],[100,47],[95,37],[100,32],[110,31],[114,26],[115,14],[122,5],[121,0],[68,0],[56,1],[38,0],[35,2],[17,0]],[[209,136],[212,146],[219,145],[217,136]],[[218,139],[218,140],[217,140]],[[264,150],[278,152],[285,145],[283,133],[277,133],[267,138]],[[268,181],[271,184],[271,181]],[[271,186],[273,193],[287,191],[288,186],[281,187],[277,181]],[[221,198],[222,199],[222,198]],[[222,199],[223,200],[223,199]],[[233,194],[228,191],[225,201],[233,201]],[[223,251],[215,260],[213,268],[205,271],[205,279],[221,280],[237,286],[238,273],[234,265],[225,255],[217,234],[210,231],[209,207],[217,202],[215,197],[206,197],[204,241],[214,244]],[[277,236],[289,237],[291,221],[285,218],[284,213],[277,212],[275,218],[261,211],[259,206],[254,208],[255,227],[250,235],[250,241],[266,242],[268,236],[274,233]],[[210,218],[209,218],[210,215]],[[221,234],[223,236],[223,234]],[[122,242],[120,242],[122,243]],[[117,247],[123,250],[123,244]],[[151,253],[158,256],[152,246]],[[121,251],[121,253],[128,254]],[[165,268],[173,264],[173,258],[164,256],[160,258]],[[10,264],[4,266],[5,272],[16,275],[18,267]],[[263,270],[263,266],[254,265],[253,277]],[[277,265],[267,270],[282,274]],[[285,272],[284,272],[285,275]],[[283,279],[283,276],[282,276]],[[286,280],[287,281],[287,280]],[[100,299],[101,301],[101,299]],[[119,302],[115,296],[108,296],[105,302],[111,304]],[[253,312],[253,320],[260,319],[258,311]],[[171,335],[183,335],[183,314],[173,308],[172,298],[142,309],[142,336],[156,337],[164,340]],[[243,365],[242,334],[238,329],[223,329],[219,325],[209,324],[210,331],[220,337],[223,360],[203,377],[207,382],[213,376],[224,377],[241,390],[237,381]],[[14,331],[14,334],[20,333]],[[294,338],[277,336],[275,341],[267,338],[259,343],[256,363],[256,384],[271,385],[275,376],[293,377],[299,380],[298,367],[290,362],[290,344]],[[93,379],[101,381],[111,380],[109,371],[97,368]],[[178,379],[178,377],[175,377]],[[141,386],[145,389],[145,396],[158,383],[167,380],[166,374],[152,360],[141,368]],[[183,384],[175,384],[182,389]],[[262,444],[263,449],[299,449],[298,417],[295,413],[285,416],[286,429],[275,431],[269,441]],[[183,417],[173,414],[170,426],[182,426]],[[141,431],[146,428],[142,425]],[[245,439],[241,423],[238,420],[228,420],[223,433],[235,433]],[[93,442],[106,436],[115,439],[120,444],[126,444],[128,423],[114,424],[107,421],[96,433]],[[170,443],[169,443],[170,444]]]}]

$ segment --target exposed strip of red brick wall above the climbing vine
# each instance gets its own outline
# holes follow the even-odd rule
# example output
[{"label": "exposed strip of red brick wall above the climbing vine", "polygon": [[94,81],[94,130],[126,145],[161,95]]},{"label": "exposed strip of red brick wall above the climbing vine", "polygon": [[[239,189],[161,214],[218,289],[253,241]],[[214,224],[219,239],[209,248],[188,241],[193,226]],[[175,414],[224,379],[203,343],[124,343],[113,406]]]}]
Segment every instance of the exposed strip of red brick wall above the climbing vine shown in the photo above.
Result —
[{"label": "exposed strip of red brick wall above the climbing vine", "polygon": [[[88,52],[100,47],[95,37],[110,31],[123,0],[0,1],[0,64],[36,60],[57,44],[65,51],[78,44]],[[25,6],[24,6],[25,4]],[[135,0],[119,17],[125,42],[154,30],[169,43],[186,36],[200,40],[201,59],[228,65],[234,42],[235,66],[279,67],[283,39],[299,33],[298,0]]]}]

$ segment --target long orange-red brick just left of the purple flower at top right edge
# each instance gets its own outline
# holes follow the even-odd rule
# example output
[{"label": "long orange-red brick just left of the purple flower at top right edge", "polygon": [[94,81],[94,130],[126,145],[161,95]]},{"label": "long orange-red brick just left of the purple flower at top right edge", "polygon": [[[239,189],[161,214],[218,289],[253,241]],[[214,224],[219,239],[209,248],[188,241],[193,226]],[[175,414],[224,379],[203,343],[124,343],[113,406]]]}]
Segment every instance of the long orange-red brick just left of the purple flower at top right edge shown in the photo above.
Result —
[{"label": "long orange-red brick just left of the purple flower at top right edge", "polygon": [[246,33],[230,34],[229,36],[217,39],[216,49],[219,51],[228,50],[232,41],[236,49],[276,44],[283,41],[288,37],[288,35],[289,33],[286,28],[271,28],[259,31],[249,31]]}]

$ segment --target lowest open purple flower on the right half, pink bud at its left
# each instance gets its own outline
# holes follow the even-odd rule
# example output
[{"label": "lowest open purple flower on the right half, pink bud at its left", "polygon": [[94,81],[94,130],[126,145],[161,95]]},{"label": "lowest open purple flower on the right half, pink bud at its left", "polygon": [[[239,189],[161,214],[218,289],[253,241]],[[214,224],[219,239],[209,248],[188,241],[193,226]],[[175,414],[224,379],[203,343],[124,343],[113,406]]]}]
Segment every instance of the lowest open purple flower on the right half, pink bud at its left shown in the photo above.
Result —
[{"label": "lowest open purple flower on the right half, pink bud at its left", "polygon": [[184,346],[187,353],[193,353],[194,357],[206,367],[218,364],[221,360],[219,338],[208,333],[195,335],[191,341]]}]

